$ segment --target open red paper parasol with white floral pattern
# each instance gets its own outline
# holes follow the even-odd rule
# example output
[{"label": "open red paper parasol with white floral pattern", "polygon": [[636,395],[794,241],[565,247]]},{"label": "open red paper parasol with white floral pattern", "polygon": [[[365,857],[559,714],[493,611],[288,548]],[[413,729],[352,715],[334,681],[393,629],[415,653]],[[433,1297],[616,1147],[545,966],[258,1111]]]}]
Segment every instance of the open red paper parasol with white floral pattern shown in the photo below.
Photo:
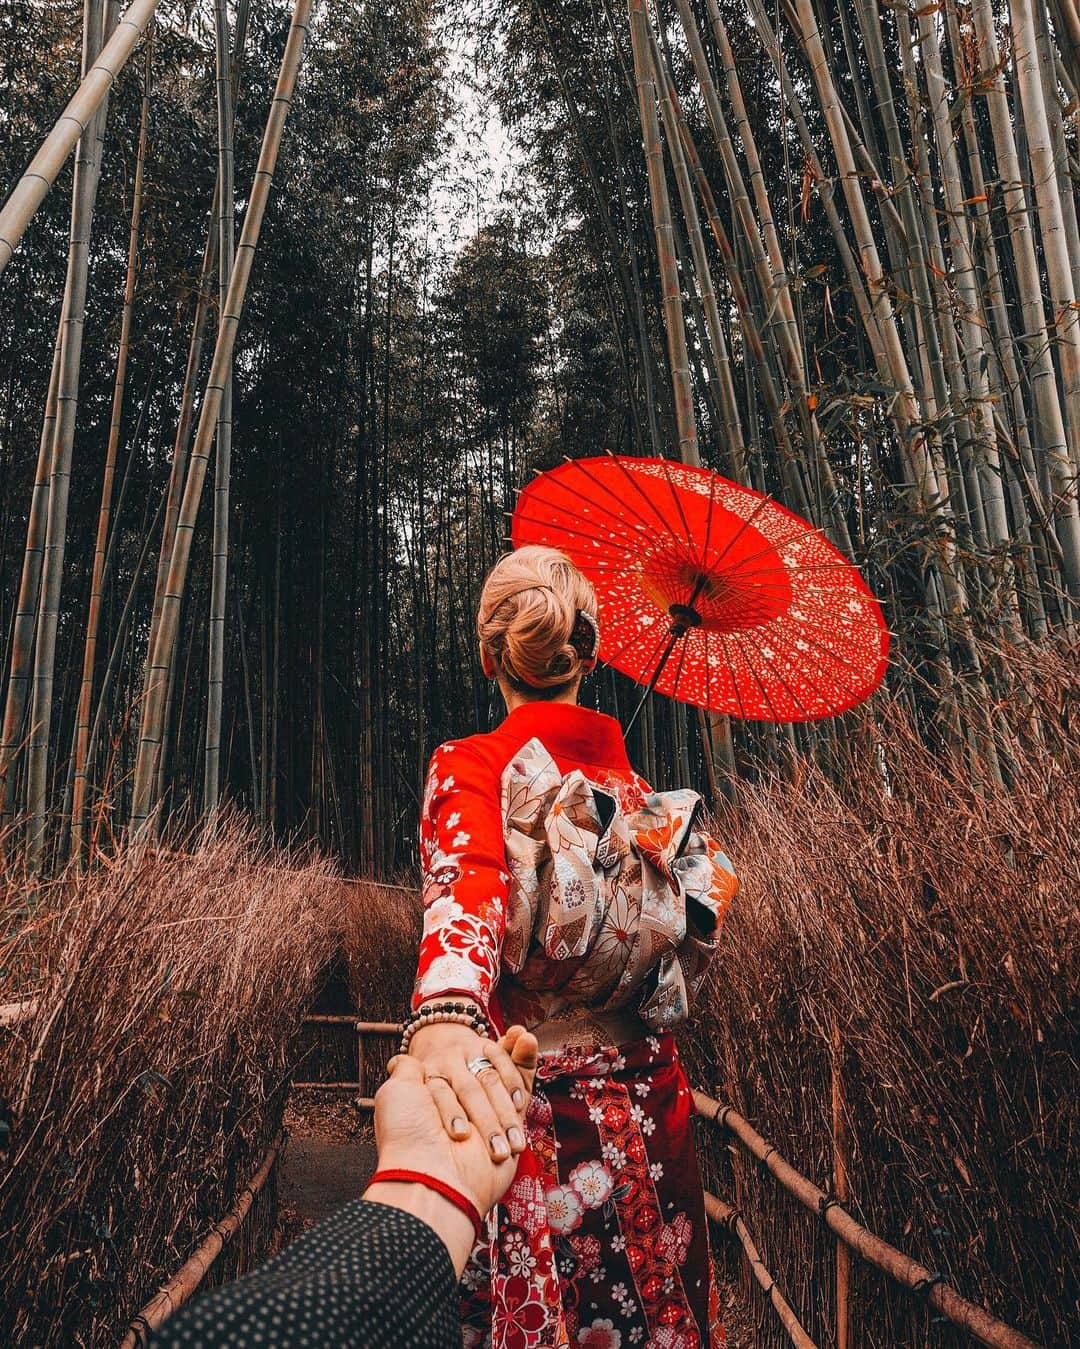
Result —
[{"label": "open red paper parasol with white floral pattern", "polygon": [[707,469],[568,460],[523,488],[511,537],[576,563],[596,587],[600,658],[684,703],[810,722],[884,674],[889,633],[855,567],[770,496]]}]

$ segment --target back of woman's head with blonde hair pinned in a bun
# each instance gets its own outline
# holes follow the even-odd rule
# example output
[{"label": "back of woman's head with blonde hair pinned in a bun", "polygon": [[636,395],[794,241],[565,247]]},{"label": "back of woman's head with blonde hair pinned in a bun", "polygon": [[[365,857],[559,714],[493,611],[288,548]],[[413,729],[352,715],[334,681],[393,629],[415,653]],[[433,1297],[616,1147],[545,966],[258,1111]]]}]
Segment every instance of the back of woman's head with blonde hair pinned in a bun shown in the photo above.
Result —
[{"label": "back of woman's head with blonde hair pinned in a bun", "polygon": [[476,631],[511,688],[550,697],[596,658],[596,592],[558,549],[530,544],[488,572]]}]

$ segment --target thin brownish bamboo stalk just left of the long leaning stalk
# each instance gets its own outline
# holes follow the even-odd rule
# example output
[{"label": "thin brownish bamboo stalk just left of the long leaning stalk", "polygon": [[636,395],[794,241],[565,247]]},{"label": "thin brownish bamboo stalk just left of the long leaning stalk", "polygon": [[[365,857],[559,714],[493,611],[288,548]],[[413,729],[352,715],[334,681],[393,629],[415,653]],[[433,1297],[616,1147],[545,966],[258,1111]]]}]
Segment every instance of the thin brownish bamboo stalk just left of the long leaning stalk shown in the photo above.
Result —
[{"label": "thin brownish bamboo stalk just left of the long leaning stalk", "polygon": [[74,781],[71,788],[71,858],[78,865],[82,858],[82,838],[86,805],[86,750],[90,738],[90,704],[93,700],[94,664],[97,658],[97,631],[101,622],[101,591],[105,575],[105,549],[109,540],[112,488],[116,476],[116,455],[120,447],[120,426],[124,411],[128,355],[131,351],[131,320],[135,310],[135,281],[139,263],[139,221],[143,209],[143,175],[150,130],[151,49],[147,45],[143,74],[143,98],[139,111],[139,144],[135,155],[135,182],[131,196],[131,224],[128,229],[128,267],[124,278],[124,301],[120,313],[120,340],[116,351],[116,378],[112,391],[109,437],[105,447],[105,472],[101,480],[101,509],[97,517],[94,560],[90,575],[90,607],[86,615],[86,641],[82,652],[82,680],[76,715]]}]

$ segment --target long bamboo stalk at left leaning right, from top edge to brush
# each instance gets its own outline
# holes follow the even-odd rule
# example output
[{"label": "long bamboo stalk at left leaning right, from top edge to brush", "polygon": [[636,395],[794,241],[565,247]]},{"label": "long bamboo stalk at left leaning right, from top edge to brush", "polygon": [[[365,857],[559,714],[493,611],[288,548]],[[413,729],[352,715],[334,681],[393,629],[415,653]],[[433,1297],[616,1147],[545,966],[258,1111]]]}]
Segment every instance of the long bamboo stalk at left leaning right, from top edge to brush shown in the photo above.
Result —
[{"label": "long bamboo stalk at left leaning right, from top edge to brush", "polygon": [[228,371],[232,366],[232,353],[236,345],[236,332],[240,325],[240,314],[244,306],[251,268],[255,260],[255,250],[259,243],[266,204],[270,197],[270,188],[274,181],[274,169],[278,162],[282,134],[293,105],[293,97],[299,73],[303,43],[311,16],[311,0],[297,0],[293,9],[293,20],[289,28],[284,53],[282,55],[278,84],[274,90],[274,101],[267,117],[263,144],[259,152],[259,165],[255,170],[255,181],[251,189],[248,208],[244,214],[244,225],[240,232],[240,241],[236,250],[236,262],[229,281],[229,290],[217,331],[214,355],[210,366],[210,375],[206,383],[206,394],[200,411],[198,430],[191,447],[191,461],[187,473],[187,483],[177,519],[175,544],[169,565],[169,579],[162,600],[160,623],[158,633],[152,638],[150,654],[150,674],[147,680],[147,696],[143,706],[139,750],[135,762],[135,785],[131,809],[132,834],[139,832],[148,822],[152,811],[154,776],[158,768],[158,749],[164,737],[164,711],[169,670],[173,664],[173,654],[179,633],[179,608],[187,581],[187,567],[191,556],[191,540],[198,517],[198,503],[202,495],[202,484],[206,478],[206,463],[213,440],[217,417],[221,407],[221,395]]}]

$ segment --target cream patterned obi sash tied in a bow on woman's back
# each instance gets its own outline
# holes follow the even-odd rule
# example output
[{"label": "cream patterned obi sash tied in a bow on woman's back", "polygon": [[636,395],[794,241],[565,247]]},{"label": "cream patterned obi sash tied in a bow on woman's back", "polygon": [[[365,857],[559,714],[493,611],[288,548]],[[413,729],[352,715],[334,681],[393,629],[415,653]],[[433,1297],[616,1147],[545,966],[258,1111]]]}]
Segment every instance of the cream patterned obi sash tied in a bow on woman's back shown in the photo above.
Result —
[{"label": "cream patterned obi sash tied in a bow on woman's back", "polygon": [[511,873],[503,967],[569,1008],[631,1009],[651,1028],[682,1021],[738,889],[697,828],[696,792],[653,792],[623,813],[613,791],[560,773],[538,739],[507,765],[503,836]]}]

